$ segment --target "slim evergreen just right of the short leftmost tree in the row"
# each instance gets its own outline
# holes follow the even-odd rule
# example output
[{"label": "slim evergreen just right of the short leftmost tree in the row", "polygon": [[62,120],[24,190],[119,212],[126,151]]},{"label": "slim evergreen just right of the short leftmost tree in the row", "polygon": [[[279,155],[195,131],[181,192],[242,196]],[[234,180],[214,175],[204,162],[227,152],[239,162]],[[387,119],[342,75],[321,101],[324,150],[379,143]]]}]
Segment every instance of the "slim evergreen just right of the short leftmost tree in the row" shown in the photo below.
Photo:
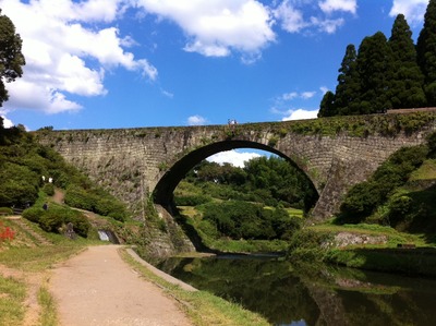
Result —
[{"label": "slim evergreen just right of the short leftmost tree in the row", "polygon": [[339,69],[335,94],[335,107],[340,116],[353,114],[358,110],[361,81],[356,70],[356,58],[354,45],[348,45]]}]

